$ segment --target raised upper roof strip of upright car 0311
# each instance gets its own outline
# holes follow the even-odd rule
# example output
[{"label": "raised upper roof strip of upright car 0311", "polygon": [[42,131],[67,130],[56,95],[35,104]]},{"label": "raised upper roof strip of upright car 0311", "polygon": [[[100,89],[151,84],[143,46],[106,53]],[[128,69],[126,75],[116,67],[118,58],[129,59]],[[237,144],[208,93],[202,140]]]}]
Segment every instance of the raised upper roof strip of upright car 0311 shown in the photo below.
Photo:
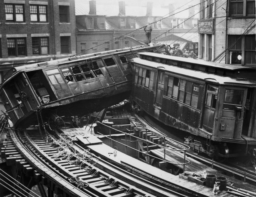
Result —
[{"label": "raised upper roof strip of upright car 0311", "polygon": [[246,67],[246,66],[220,64],[220,63],[216,63],[216,62],[208,62],[208,61],[198,60],[198,59],[193,59],[193,58],[182,58],[182,57],[177,57],[177,56],[168,56],[168,55],[164,55],[164,54],[157,54],[157,53],[151,53],[151,52],[139,52],[137,54],[166,59],[166,60],[175,60],[178,62],[197,64],[197,65],[202,65],[202,66],[207,66],[207,67],[222,68],[225,70],[256,70],[256,68],[251,68],[251,67]]}]

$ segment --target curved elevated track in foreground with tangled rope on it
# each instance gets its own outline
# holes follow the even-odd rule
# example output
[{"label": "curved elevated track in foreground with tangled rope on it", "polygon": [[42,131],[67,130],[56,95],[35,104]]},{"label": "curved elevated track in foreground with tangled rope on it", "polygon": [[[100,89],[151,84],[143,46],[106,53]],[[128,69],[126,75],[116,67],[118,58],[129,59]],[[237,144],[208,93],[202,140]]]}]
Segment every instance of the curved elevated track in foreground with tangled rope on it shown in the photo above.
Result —
[{"label": "curved elevated track in foreground with tangled rope on it", "polygon": [[[7,165],[24,173],[27,181],[23,183],[28,188],[37,183],[42,196],[207,196],[185,186],[164,182],[137,168],[127,170],[127,165],[122,168],[90,153],[88,147],[100,145],[96,137],[88,138],[93,143],[87,144],[58,131],[42,138],[37,126],[19,132],[10,129],[8,133],[10,137],[3,144],[1,156]],[[106,145],[102,147],[106,149]],[[18,189],[16,192],[26,196]]]}]

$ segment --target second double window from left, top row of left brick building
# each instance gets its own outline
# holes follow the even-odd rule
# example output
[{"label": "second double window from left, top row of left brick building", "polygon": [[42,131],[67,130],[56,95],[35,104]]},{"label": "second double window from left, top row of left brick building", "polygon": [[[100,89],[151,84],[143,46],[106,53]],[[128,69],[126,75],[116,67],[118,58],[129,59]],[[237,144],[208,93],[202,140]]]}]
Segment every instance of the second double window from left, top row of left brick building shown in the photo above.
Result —
[{"label": "second double window from left, top row of left brick building", "polygon": [[31,22],[46,22],[47,7],[42,5],[30,5]]}]

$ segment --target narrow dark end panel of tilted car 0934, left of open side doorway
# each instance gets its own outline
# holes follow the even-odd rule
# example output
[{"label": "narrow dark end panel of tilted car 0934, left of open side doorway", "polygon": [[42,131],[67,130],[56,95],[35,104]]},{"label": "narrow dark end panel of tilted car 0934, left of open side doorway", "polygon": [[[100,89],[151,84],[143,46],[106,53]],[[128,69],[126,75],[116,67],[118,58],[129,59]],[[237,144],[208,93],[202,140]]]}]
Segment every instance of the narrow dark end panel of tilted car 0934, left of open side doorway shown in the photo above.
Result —
[{"label": "narrow dark end panel of tilted car 0934, left of open side doorway", "polygon": [[40,103],[32,91],[32,86],[30,86],[29,80],[25,73],[20,74],[20,76],[16,78],[15,84],[20,94],[22,104],[25,105],[28,111],[31,109],[36,109],[40,106]]}]

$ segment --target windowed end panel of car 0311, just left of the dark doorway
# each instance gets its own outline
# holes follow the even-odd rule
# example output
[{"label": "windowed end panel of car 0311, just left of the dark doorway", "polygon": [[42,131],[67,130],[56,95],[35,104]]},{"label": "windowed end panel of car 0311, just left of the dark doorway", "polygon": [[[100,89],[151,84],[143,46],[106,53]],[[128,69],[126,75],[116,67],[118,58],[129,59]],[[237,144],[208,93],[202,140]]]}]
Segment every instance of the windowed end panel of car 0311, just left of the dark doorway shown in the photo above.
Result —
[{"label": "windowed end panel of car 0311, just left of the dark doorway", "polygon": [[225,87],[219,137],[240,138],[244,120],[247,88]]}]

